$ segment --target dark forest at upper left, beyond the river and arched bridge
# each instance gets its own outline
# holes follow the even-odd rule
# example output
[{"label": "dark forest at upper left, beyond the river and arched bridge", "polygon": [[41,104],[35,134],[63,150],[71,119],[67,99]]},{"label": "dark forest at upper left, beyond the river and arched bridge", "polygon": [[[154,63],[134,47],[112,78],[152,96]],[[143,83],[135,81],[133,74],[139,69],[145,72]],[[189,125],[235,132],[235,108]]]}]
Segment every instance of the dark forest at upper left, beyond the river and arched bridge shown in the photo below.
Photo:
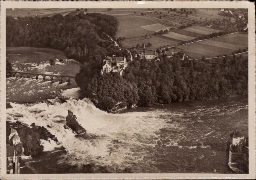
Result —
[{"label": "dark forest at upper left, beyond the river and arched bridge", "polygon": [[80,62],[102,61],[108,52],[115,50],[102,31],[114,37],[118,24],[116,17],[97,13],[6,17],[6,46],[54,48],[64,50],[68,58]]}]

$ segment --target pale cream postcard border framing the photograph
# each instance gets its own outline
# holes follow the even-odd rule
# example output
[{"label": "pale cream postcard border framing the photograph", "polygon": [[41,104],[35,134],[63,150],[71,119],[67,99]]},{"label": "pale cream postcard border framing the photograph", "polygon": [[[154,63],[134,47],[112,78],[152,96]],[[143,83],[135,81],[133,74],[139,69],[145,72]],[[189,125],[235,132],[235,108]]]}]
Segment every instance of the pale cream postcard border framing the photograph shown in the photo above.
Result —
[{"label": "pale cream postcard border framing the photograph", "polygon": [[[248,8],[249,174],[6,174],[6,9],[8,8]],[[1,179],[254,179],[255,165],[255,8],[248,1],[2,1],[0,11],[0,178]]]}]

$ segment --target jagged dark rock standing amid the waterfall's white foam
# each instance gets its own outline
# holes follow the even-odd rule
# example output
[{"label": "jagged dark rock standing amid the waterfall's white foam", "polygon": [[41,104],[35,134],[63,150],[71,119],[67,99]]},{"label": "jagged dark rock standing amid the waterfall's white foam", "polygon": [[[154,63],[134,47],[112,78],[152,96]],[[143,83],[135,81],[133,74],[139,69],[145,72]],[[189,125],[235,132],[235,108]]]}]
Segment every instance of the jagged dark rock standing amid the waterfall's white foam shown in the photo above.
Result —
[{"label": "jagged dark rock standing amid the waterfall's white foam", "polygon": [[[75,131],[77,134],[86,134],[85,129],[77,122],[76,115],[71,110],[67,110],[68,115],[66,117],[67,126]],[[64,127],[65,128],[65,127]]]}]

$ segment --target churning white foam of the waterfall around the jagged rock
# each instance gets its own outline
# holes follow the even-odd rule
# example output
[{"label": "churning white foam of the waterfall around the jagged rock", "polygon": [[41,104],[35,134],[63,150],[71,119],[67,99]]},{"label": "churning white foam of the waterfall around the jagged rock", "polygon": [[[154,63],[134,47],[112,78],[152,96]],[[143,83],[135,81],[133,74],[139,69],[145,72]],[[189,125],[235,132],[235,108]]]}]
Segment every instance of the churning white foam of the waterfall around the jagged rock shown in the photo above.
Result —
[{"label": "churning white foam of the waterfall around the jagged rock", "polygon": [[[76,89],[77,90],[77,89]],[[72,92],[74,90],[70,90]],[[66,92],[67,93],[67,92]],[[165,119],[156,117],[154,111],[133,112],[123,114],[109,114],[96,108],[89,99],[69,99],[65,103],[49,100],[51,104],[37,103],[20,105],[11,103],[13,108],[7,109],[8,119],[31,125],[44,126],[55,135],[67,151],[70,164],[84,164],[84,162],[98,162],[100,165],[118,166],[125,162],[140,161],[142,154],[134,153],[134,149],[154,147],[156,131],[163,128]],[[95,134],[99,138],[93,140],[79,139],[72,131],[64,129],[67,110],[71,110],[77,117],[79,124],[87,133]],[[19,112],[17,114],[15,112]],[[49,125],[49,127],[47,127]],[[116,140],[116,143],[113,143]],[[55,145],[48,141],[41,141],[45,151],[52,150]],[[142,152],[147,154],[147,152]]]}]

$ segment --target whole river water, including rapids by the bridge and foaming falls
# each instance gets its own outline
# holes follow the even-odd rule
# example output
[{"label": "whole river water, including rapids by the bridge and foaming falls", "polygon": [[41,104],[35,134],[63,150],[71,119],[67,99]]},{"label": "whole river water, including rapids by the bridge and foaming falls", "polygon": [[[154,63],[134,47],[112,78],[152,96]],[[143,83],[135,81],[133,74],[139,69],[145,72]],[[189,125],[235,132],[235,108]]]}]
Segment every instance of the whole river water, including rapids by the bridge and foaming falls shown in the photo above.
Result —
[{"label": "whole river water, including rapids by the bridge and foaming falls", "polygon": [[[7,57],[11,59],[11,56]],[[17,61],[12,61],[12,64],[17,64]],[[31,59],[19,63],[19,67],[34,63],[34,70],[56,73],[55,68],[50,71],[49,65],[42,67],[44,63],[35,64]],[[58,72],[73,72],[75,68],[70,68],[70,64],[79,65],[68,60],[56,65]],[[42,141],[45,151],[23,162],[26,165],[20,172],[24,174],[232,173],[227,166],[229,134],[235,129],[245,136],[248,134],[247,96],[137,107],[109,114],[96,108],[89,99],[74,99],[79,95],[75,84],[60,87],[60,84],[53,86],[54,83],[46,81],[40,84],[38,81],[44,82],[7,78],[7,101],[13,106],[7,109],[7,118],[12,122],[20,120],[28,125],[35,122],[44,126],[60,144]],[[27,94],[26,88],[36,90]],[[39,96],[40,88],[43,92]],[[54,88],[52,94],[45,91]],[[23,96],[14,95],[15,92]],[[67,102],[54,99],[56,96],[65,97]],[[49,100],[43,101],[47,97]],[[76,115],[87,133],[97,137],[81,139],[64,129],[67,110]]]}]

